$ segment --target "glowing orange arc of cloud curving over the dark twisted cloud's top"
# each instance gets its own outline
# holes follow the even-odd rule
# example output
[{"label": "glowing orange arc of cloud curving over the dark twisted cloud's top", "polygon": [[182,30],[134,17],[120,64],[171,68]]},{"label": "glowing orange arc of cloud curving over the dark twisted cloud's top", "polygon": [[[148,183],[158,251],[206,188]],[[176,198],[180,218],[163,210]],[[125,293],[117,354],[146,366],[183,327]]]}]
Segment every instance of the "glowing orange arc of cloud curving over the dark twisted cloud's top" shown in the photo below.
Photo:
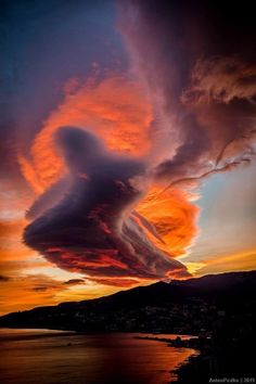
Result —
[{"label": "glowing orange arc of cloud curving over the dark twisted cloud's top", "polygon": [[85,127],[118,153],[142,155],[151,145],[148,136],[153,119],[151,105],[135,81],[110,77],[97,82],[90,78],[74,92],[68,87],[65,90],[64,101],[36,136],[30,159],[18,156],[22,172],[37,194],[65,171],[53,138],[61,126]]}]

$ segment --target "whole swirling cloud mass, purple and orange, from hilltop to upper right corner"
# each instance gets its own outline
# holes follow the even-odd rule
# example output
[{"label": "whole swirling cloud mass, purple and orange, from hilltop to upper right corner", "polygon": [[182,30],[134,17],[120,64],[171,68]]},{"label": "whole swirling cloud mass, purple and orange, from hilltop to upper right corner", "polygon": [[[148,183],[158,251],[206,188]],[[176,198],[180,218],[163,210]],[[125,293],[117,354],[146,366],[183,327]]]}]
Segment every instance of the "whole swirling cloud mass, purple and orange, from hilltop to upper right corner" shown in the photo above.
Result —
[{"label": "whole swirling cloud mass, purple and orange, from hilltop to upper right corner", "polygon": [[196,234],[188,185],[254,157],[256,34],[248,5],[130,0],[119,12],[140,97],[132,104],[124,79],[81,88],[36,137],[34,168],[20,163],[39,193],[26,244],[61,268],[129,285],[188,276],[175,259]]}]

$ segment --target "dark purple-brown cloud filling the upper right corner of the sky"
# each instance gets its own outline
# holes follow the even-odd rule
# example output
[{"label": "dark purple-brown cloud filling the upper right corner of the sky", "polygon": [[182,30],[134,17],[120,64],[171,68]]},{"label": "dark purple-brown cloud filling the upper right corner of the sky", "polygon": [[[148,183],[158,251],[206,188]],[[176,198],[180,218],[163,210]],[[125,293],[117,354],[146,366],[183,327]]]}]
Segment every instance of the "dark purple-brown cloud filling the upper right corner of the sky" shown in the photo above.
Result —
[{"label": "dark purple-brown cloud filling the upper right corner of the sky", "polygon": [[131,0],[120,9],[135,72],[155,106],[152,138],[162,138],[154,175],[172,183],[249,161],[256,118],[252,7]]}]

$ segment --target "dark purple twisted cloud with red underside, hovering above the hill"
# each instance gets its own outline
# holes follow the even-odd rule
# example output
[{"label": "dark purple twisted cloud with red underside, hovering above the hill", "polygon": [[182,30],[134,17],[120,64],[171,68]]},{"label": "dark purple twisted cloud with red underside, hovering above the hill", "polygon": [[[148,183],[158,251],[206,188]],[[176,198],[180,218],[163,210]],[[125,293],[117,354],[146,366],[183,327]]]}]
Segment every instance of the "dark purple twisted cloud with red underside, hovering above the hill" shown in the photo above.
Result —
[{"label": "dark purple twisted cloud with red underside, hovering above the hill", "polygon": [[61,268],[94,278],[187,276],[185,267],[159,251],[136,219],[145,165],[111,155],[92,133],[75,127],[60,128],[56,142],[69,189],[26,228],[26,244]]}]

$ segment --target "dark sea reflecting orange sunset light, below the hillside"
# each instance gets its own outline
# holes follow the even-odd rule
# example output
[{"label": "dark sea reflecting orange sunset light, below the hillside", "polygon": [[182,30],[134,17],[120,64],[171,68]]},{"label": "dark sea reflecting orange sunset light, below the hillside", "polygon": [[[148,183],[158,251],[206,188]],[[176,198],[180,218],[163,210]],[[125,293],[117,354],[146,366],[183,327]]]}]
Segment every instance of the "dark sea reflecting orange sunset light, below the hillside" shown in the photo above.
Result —
[{"label": "dark sea reflecting orange sunset light, below the hillside", "polygon": [[[0,329],[1,384],[167,384],[196,351],[136,336]],[[182,336],[181,338],[188,338]]]}]

